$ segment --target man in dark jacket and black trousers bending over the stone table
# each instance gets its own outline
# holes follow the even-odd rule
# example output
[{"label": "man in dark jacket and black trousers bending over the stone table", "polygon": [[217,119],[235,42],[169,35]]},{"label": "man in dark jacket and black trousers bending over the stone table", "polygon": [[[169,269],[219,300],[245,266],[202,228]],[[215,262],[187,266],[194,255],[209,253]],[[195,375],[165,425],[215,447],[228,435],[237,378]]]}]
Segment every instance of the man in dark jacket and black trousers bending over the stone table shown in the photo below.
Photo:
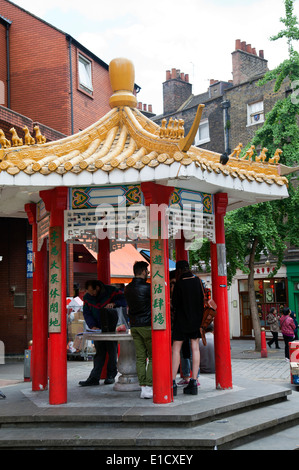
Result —
[{"label": "man in dark jacket and black trousers bending over the stone table", "polygon": [[[125,296],[121,290],[105,285],[101,281],[87,281],[85,289],[87,292],[83,297],[84,320],[90,330],[102,330],[101,309],[126,306]],[[117,341],[95,341],[94,346],[96,350],[94,366],[88,379],[79,382],[82,387],[99,385],[106,354],[108,354],[107,378],[104,383],[112,384],[117,374]]]}]

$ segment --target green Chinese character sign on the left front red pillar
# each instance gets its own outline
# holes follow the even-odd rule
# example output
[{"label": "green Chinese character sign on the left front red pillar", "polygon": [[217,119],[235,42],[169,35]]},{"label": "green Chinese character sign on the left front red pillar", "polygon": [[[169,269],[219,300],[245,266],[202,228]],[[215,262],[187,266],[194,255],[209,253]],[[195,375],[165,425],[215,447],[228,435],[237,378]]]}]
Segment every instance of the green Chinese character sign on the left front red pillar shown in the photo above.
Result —
[{"label": "green Chinese character sign on the left front red pillar", "polygon": [[49,333],[61,331],[61,227],[49,231]]}]

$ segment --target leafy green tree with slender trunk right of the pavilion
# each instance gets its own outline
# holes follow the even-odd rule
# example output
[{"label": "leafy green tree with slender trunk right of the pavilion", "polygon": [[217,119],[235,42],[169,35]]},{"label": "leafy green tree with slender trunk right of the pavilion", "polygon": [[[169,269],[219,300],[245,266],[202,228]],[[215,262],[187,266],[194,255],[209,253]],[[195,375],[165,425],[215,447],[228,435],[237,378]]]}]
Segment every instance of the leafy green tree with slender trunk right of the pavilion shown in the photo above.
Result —
[{"label": "leafy green tree with slender trunk right of the pavilion", "polygon": [[[285,29],[270,38],[271,41],[287,39],[288,59],[276,69],[267,72],[259,82],[262,86],[274,81],[274,91],[278,92],[282,83],[288,81],[292,93],[276,102],[266,115],[264,125],[248,144],[248,147],[266,147],[268,155],[273,155],[275,150],[280,148],[283,151],[281,163],[287,166],[294,166],[299,155],[299,96],[298,99],[296,97],[296,89],[299,87],[299,54],[293,45],[299,40],[299,28],[297,18],[293,14],[294,1],[284,0],[286,17],[280,21]],[[282,264],[286,243],[299,246],[299,191],[296,184],[293,184],[292,177],[288,176],[288,179],[289,198],[243,207],[227,213],[225,217],[228,283],[231,283],[237,269],[248,274],[249,301],[257,351],[261,349],[261,327],[254,290],[254,263],[262,254],[275,255],[275,273]],[[207,267],[209,257],[208,242],[204,242],[200,250],[191,252],[190,255],[192,264],[200,265],[199,260],[202,260]]]}]

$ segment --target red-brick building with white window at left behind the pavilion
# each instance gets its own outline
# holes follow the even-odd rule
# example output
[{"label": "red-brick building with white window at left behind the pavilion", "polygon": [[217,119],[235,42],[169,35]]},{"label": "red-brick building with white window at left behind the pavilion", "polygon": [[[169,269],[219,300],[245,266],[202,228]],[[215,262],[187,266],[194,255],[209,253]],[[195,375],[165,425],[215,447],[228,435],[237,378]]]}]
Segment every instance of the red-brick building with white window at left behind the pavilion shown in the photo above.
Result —
[{"label": "red-brick building with white window at left behind the pavilion", "polygon": [[[111,94],[105,62],[70,35],[0,0],[0,129],[7,140],[11,128],[24,140],[24,126],[34,137],[36,124],[47,141],[77,133],[110,110]],[[6,354],[20,354],[32,339],[31,226],[24,212],[7,216],[11,195],[1,182],[0,198],[0,341]]]}]

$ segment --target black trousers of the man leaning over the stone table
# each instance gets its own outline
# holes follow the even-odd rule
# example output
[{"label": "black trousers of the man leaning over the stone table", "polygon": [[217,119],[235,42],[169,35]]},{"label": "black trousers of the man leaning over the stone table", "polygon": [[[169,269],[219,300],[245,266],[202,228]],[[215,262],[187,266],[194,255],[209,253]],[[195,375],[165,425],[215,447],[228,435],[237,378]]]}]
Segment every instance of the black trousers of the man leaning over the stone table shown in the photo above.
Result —
[{"label": "black trousers of the man leaning over the stone table", "polygon": [[106,354],[108,354],[107,362],[107,378],[114,379],[117,374],[117,341],[95,341],[96,353],[93,358],[93,369],[89,377],[100,380],[102,369],[105,364]]}]

